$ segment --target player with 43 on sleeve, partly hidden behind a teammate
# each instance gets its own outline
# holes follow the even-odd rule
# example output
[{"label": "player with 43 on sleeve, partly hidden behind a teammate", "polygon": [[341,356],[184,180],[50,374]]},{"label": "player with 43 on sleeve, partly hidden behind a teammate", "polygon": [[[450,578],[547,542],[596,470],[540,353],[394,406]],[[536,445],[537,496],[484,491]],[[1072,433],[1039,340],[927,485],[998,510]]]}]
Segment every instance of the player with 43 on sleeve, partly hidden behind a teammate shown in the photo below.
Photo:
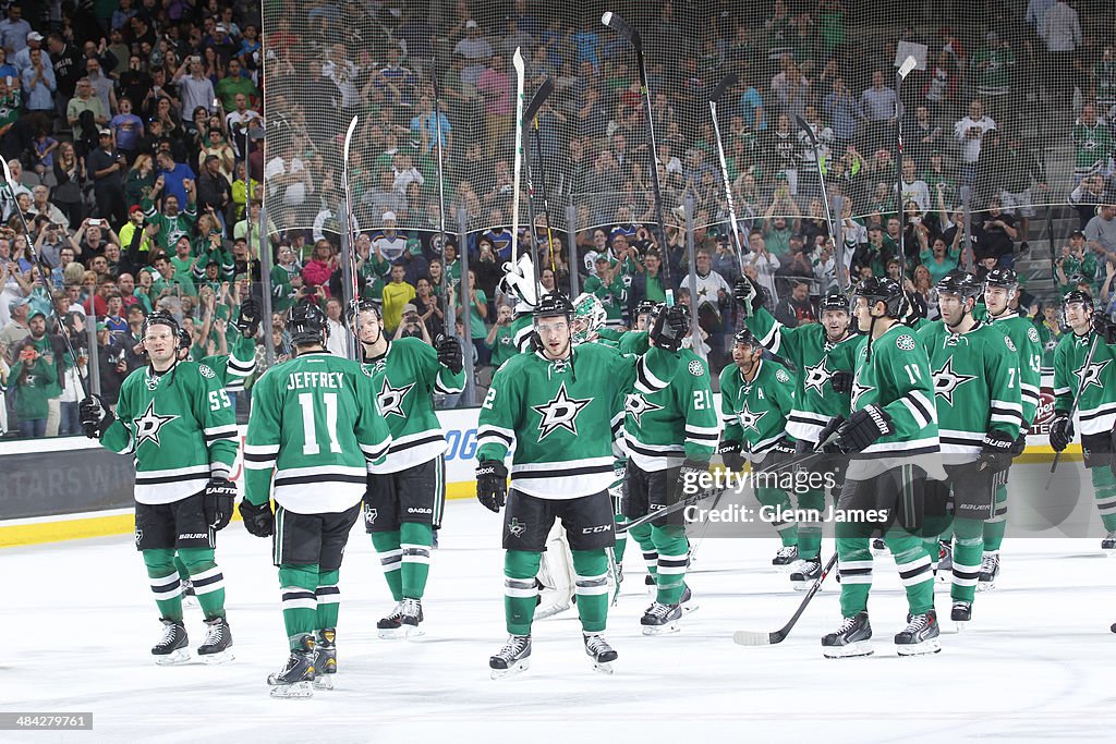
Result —
[{"label": "player with 43 on sleeve, partly hidden behind a teammate", "polygon": [[[1002,330],[1019,351],[1019,393],[1022,403],[1022,422],[1019,436],[1011,448],[1011,456],[1018,457],[1027,447],[1027,432],[1035,421],[1042,384],[1042,345],[1035,325],[1019,313],[1019,278],[1013,269],[993,269],[984,278],[984,306],[988,321]],[[995,491],[995,514],[984,522],[984,553],[980,562],[980,581],[977,591],[995,587],[1000,576],[1000,545],[1008,519],[1008,472],[1003,483]]]}]

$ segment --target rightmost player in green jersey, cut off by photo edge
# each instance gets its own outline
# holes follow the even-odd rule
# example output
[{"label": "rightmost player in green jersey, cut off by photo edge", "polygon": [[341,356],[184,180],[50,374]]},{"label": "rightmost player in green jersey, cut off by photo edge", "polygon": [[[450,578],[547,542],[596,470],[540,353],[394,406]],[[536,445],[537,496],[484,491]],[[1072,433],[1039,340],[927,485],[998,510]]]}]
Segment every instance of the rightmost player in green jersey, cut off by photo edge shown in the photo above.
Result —
[{"label": "rightmost player in green jersey, cut off by photo edge", "polygon": [[[1074,438],[1070,412],[1077,400],[1081,425],[1081,454],[1093,480],[1100,522],[1108,533],[1100,549],[1116,550],[1116,476],[1113,475],[1113,428],[1116,425],[1116,332],[1104,316],[1093,315],[1093,298],[1074,290],[1062,298],[1066,334],[1054,352],[1055,418],[1050,446],[1061,452]],[[1085,360],[1096,345],[1088,369]]]}]

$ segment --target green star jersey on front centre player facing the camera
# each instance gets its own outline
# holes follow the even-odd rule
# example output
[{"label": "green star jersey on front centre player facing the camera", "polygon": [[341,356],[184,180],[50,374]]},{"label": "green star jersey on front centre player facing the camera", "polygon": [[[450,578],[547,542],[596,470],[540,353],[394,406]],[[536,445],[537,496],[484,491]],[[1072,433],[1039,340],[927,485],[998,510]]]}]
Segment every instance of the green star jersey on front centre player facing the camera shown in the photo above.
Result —
[{"label": "green star jersey on front centre player facing the camera", "polygon": [[597,344],[560,361],[541,352],[509,359],[481,405],[477,458],[502,461],[514,448],[511,486],[540,499],[607,490],[633,375],[634,360]]}]

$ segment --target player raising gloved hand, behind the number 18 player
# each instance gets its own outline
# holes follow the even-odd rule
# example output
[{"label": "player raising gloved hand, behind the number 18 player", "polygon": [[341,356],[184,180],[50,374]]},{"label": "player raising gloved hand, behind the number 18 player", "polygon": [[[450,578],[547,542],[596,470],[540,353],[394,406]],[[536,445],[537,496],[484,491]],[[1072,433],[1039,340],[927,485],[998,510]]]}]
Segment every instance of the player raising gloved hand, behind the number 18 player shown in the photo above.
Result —
[{"label": "player raising gloved hand, behind the number 18 player", "polygon": [[[817,447],[818,435],[834,416],[849,415],[853,387],[853,358],[863,337],[849,332],[848,299],[829,293],[821,298],[820,323],[787,328],[764,307],[767,293],[747,277],[741,277],[733,294],[743,310],[744,323],[771,354],[790,361],[796,375],[795,409],[786,418],[787,434],[793,437],[799,454]],[[824,472],[822,463],[810,470]],[[825,491],[811,489],[799,495],[801,509],[825,508]],[[796,588],[806,588],[821,574],[821,524],[800,522],[796,558],[804,563],[791,573]]]}]

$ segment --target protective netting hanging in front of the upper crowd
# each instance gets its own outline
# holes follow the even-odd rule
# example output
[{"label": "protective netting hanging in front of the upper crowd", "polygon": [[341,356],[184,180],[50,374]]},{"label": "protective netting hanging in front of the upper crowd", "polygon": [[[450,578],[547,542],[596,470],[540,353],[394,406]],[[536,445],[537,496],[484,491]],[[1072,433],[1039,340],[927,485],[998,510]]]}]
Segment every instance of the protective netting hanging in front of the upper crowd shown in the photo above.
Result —
[{"label": "protective netting hanging in front of the upper crowd", "polygon": [[[283,158],[269,165],[278,175],[268,180],[276,224],[330,229],[341,199],[341,136],[359,115],[349,163],[359,226],[381,226],[389,211],[403,230],[433,230],[432,69],[446,131],[448,209],[463,206],[470,231],[510,224],[517,46],[527,98],[543,76],[555,81],[538,138],[530,136],[541,155],[531,162],[536,194],[541,168],[551,224],[565,231],[568,205],[581,231],[652,222],[636,57],[600,23],[604,10],[643,35],[667,222],[681,221],[690,193],[699,245],[728,232],[708,96],[729,73],[739,83],[719,119],[740,225],[745,234],[760,229],[779,250],[801,235],[804,265],[829,260],[828,251],[810,250],[830,232],[816,157],[835,219],[845,218],[854,276],[885,271],[902,242],[910,264],[915,254],[933,263],[931,279],[955,260],[1017,260],[1036,291],[1049,291],[1050,252],[1060,253],[1069,232],[1110,199],[1110,2],[291,0],[264,3],[268,160]],[[901,89],[901,223],[894,86],[907,54],[918,67]],[[817,151],[797,117],[816,133]],[[522,190],[527,224],[526,178]],[[449,228],[456,230],[455,219]],[[593,233],[584,235],[578,242],[590,248]],[[936,240],[944,259],[934,258]],[[1088,273],[1084,258],[1070,263],[1059,283]],[[1085,278],[1095,292],[1103,263],[1094,261]]]}]

